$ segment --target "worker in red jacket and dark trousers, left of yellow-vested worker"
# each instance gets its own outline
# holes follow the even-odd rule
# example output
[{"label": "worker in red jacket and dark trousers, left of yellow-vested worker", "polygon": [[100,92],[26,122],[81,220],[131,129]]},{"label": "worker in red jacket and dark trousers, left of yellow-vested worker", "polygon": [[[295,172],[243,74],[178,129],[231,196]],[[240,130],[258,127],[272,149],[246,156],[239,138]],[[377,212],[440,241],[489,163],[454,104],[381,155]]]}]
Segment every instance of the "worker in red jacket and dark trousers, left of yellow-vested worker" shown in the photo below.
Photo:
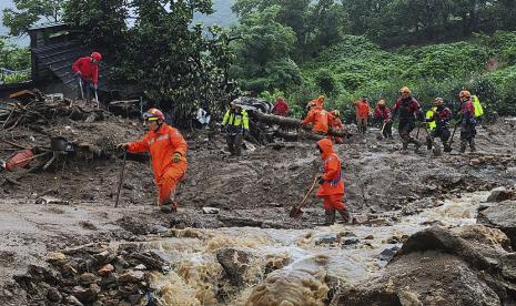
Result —
[{"label": "worker in red jacket and dark trousers, left of yellow-vested worker", "polygon": [[403,151],[406,152],[408,143],[415,145],[415,152],[421,147],[421,142],[411,136],[411,132],[416,128],[416,119],[424,120],[423,111],[421,110],[419,102],[412,96],[412,91],[408,88],[399,90],[401,96],[396,100],[393,108],[393,121],[399,116],[399,124],[397,131],[403,142]]}]

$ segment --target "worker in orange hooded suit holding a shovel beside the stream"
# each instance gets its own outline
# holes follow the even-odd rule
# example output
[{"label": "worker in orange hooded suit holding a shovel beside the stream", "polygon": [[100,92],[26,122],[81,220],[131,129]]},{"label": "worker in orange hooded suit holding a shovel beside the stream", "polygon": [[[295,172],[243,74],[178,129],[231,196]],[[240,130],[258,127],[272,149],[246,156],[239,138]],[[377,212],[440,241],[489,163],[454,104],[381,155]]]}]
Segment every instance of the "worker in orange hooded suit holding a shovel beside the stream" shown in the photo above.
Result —
[{"label": "worker in orange hooded suit holding a shovel beside the stream", "polygon": [[323,175],[318,176],[321,186],[317,190],[317,196],[323,198],[323,207],[326,215],[325,224],[335,223],[335,211],[338,212],[344,221],[351,220],[350,212],[343,203],[344,180],[342,177],[341,160],[333,150],[333,143],[328,139],[317,142],[321,159],[324,161]]}]

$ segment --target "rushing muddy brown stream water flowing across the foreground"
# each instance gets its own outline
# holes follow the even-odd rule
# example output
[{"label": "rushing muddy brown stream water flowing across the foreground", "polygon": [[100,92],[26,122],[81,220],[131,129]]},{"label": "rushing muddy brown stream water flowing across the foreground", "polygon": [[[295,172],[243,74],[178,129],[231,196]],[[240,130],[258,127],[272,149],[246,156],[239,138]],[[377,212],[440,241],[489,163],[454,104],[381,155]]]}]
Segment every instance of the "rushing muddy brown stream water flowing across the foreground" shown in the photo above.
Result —
[{"label": "rushing muddy brown stream water flowing across the foreground", "polygon": [[[153,286],[165,305],[322,305],[330,283],[353,284],[386,265],[380,254],[393,253],[402,242],[432,224],[463,226],[476,223],[479,203],[488,193],[465,194],[435,208],[402,217],[394,225],[333,225],[311,230],[254,227],[174,231],[142,246],[172,263]],[[244,285],[225,277],[216,259],[223,247],[251,254],[242,274]],[[391,254],[392,255],[392,254]],[[267,272],[275,269],[273,273]],[[331,284],[331,285],[332,285]],[[221,302],[224,300],[224,302]]]}]

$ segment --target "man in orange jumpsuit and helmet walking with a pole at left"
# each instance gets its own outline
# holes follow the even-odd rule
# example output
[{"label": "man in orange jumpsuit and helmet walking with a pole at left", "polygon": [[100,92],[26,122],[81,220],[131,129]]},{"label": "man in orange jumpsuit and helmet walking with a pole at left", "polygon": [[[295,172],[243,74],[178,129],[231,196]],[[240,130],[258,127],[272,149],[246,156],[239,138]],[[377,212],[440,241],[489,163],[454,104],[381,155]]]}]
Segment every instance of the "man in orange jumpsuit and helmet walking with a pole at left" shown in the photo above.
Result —
[{"label": "man in orange jumpsuit and helmet walking with a pole at left", "polygon": [[149,151],[159,192],[158,205],[162,212],[175,212],[175,187],[186,173],[186,142],[179,130],[164,123],[165,118],[160,110],[150,109],[143,114],[143,120],[149,126],[143,139],[122,143],[119,147],[130,153]]}]

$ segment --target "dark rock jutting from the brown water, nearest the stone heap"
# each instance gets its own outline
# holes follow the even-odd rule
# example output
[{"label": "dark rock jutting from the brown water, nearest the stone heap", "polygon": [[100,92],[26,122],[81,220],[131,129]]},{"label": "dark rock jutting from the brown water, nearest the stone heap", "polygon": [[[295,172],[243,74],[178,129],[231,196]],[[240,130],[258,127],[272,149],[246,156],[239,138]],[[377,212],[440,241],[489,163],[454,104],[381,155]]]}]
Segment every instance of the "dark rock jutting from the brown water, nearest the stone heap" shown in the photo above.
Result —
[{"label": "dark rock jutting from the brown water, nearest the stone heap", "polygon": [[243,275],[250,268],[253,257],[247,251],[236,248],[222,248],[216,253],[216,261],[224,268],[230,282],[235,286],[244,285]]}]

